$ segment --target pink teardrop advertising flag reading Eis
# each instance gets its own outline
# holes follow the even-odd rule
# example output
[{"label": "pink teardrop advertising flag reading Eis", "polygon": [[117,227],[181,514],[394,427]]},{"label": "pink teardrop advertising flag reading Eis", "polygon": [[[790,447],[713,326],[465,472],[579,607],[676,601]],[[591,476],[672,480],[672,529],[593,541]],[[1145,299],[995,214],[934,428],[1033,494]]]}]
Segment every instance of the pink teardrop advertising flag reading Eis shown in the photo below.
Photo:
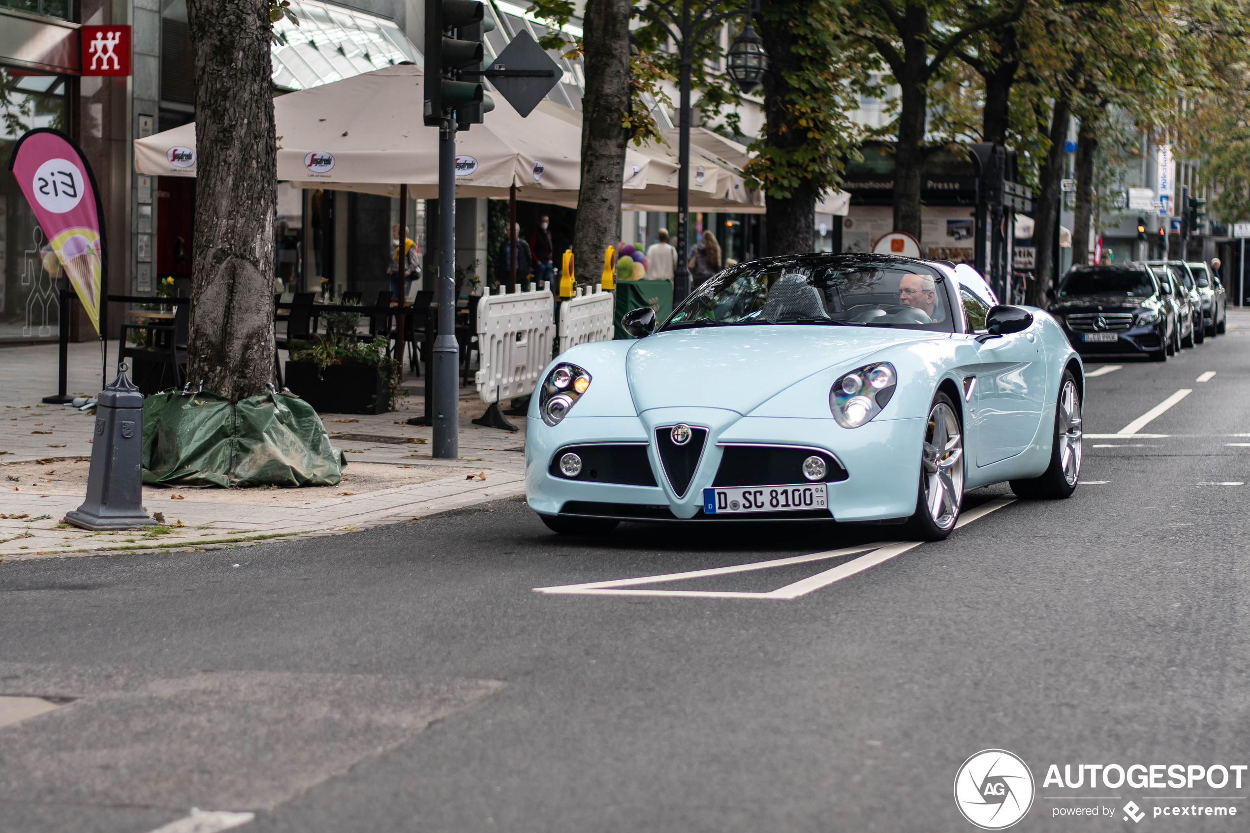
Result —
[{"label": "pink teardrop advertising flag reading Eis", "polygon": [[40,127],[18,140],[9,170],[99,333],[100,287],[108,283],[100,189],[91,166],[65,134]]}]

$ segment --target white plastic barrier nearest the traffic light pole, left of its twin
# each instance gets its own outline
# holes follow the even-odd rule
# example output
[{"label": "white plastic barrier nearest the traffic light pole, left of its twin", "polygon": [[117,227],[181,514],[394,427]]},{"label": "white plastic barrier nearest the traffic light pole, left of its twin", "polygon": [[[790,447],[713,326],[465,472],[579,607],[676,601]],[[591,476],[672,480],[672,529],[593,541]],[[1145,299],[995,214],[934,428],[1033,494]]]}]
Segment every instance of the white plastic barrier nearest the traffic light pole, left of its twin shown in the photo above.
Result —
[{"label": "white plastic barrier nearest the traffic light pole, left of its twin", "polygon": [[550,283],[528,292],[502,287],[499,295],[478,300],[478,347],[481,370],[475,376],[478,395],[486,405],[534,392],[539,373],[551,361],[555,337]]}]

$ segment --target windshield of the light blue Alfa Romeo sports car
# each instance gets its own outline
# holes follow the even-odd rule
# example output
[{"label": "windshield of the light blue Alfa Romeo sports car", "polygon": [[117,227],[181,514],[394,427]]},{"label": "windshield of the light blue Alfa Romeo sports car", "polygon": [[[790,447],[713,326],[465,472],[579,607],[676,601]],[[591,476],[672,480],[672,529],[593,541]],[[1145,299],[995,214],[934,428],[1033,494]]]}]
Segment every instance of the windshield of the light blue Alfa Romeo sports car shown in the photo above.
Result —
[{"label": "windshield of the light blue Alfa Romeo sports car", "polygon": [[954,332],[945,280],[902,259],[771,259],[705,281],[664,328],[785,323]]}]

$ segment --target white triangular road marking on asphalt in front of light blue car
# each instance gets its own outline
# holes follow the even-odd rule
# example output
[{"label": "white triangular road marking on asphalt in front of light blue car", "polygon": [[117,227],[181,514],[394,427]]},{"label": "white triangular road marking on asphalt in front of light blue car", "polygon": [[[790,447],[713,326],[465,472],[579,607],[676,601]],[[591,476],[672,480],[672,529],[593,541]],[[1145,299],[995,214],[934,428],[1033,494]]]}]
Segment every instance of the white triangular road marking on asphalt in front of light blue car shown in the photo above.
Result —
[{"label": "white triangular road marking on asphalt in front of light blue car", "polygon": [[[1001,510],[1009,503],[1014,503],[1014,498],[999,497],[989,501],[975,510],[969,510],[960,516],[959,522],[955,528],[968,526],[972,521],[985,517],[995,510]],[[535,593],[548,593],[559,596],[651,596],[651,597],[669,597],[669,598],[771,598],[771,599],[795,599],[800,596],[806,596],[812,591],[818,591],[821,587],[828,587],[834,582],[841,581],[849,576],[862,572],[869,567],[875,567],[895,556],[901,556],[909,550],[915,550],[924,541],[885,541],[878,543],[869,543],[859,547],[846,547],[844,550],[830,550],[828,552],[814,552],[809,556],[791,556],[789,558],[776,558],[774,561],[758,561],[750,564],[735,564],[732,567],[714,567],[711,569],[692,569],[684,573],[669,573],[666,576],[642,576],[640,578],[620,578],[615,581],[606,582],[589,582],[585,584],[564,584],[559,587],[535,587]],[[816,573],[808,578],[802,578],[785,587],[779,587],[774,591],[768,591],[764,593],[750,593],[750,592],[730,592],[730,591],[696,591],[696,589],[629,589],[634,584],[659,584],[662,582],[684,581],[688,578],[706,578],[710,576],[729,576],[732,573],[750,572],[755,569],[770,569],[772,567],[788,567],[790,564],[802,564],[812,561],[828,561],[830,558],[840,558],[842,556],[852,556],[858,552],[866,552],[868,555],[860,556],[859,558],[852,558],[845,563],[838,564],[831,569]]]}]

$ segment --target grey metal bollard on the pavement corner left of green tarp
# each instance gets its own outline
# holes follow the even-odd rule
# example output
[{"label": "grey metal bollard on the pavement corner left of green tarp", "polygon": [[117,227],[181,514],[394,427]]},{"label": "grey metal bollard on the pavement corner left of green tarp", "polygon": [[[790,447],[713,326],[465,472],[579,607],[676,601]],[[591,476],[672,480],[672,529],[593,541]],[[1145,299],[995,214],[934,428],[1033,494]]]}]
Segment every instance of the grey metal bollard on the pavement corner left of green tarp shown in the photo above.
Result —
[{"label": "grey metal bollard on the pavement corner left of green tarp", "polygon": [[118,378],[98,397],[86,501],[65,513],[68,522],[84,530],[132,530],[156,523],[142,507],[142,440],[144,395],[126,378],[122,363]]}]

